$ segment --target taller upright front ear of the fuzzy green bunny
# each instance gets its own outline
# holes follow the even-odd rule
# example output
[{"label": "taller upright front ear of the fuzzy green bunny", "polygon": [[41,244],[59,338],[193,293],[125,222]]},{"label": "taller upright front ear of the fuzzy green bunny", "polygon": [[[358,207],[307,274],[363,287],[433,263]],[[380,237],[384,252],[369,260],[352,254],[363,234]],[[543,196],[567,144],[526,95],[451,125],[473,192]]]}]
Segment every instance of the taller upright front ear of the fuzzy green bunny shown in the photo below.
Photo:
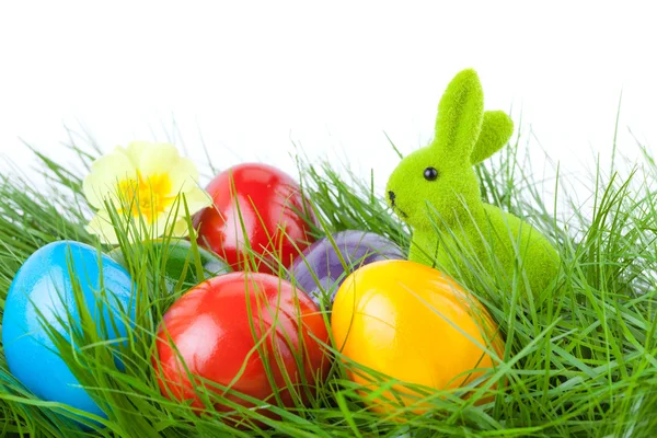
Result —
[{"label": "taller upright front ear of the fuzzy green bunny", "polygon": [[484,92],[472,69],[459,72],[447,85],[438,104],[433,147],[443,160],[470,161],[484,118]]}]

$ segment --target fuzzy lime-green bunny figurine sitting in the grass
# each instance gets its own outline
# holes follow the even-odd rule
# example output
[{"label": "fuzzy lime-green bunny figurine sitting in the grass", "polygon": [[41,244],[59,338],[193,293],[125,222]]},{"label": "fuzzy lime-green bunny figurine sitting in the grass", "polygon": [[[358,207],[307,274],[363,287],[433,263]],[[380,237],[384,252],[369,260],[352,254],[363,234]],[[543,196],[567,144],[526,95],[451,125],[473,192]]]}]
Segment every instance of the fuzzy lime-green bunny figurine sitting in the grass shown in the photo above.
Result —
[{"label": "fuzzy lime-green bunny figurine sitting in the grass", "polygon": [[521,263],[528,283],[521,288],[538,296],[557,275],[557,252],[529,223],[483,203],[473,168],[502,149],[512,131],[504,112],[484,112],[476,72],[461,71],[440,99],[431,143],[405,157],[390,176],[388,203],[413,228],[410,260],[466,272],[464,257],[454,252],[468,247],[487,273],[502,268],[507,280]]}]

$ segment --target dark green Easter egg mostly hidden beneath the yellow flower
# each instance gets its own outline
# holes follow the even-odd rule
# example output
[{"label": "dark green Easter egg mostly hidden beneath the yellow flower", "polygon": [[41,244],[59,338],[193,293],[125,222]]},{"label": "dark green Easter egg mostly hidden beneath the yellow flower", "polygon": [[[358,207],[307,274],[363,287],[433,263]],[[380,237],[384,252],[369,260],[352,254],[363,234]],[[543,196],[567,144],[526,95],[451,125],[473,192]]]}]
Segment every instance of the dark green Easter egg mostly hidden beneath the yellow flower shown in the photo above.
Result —
[{"label": "dark green Easter egg mostly hidden beneath the yellow flower", "polygon": [[[216,277],[221,274],[232,272],[228,263],[219,258],[216,254],[197,246],[198,257],[203,266],[203,274],[196,270],[196,254],[192,249],[192,242],[184,239],[163,240],[157,239],[153,241],[142,242],[140,245],[154,246],[153,253],[161,255],[161,263],[164,264],[164,275],[169,290],[174,290],[178,281],[182,279],[181,287],[187,289],[196,286],[199,283]],[[120,247],[112,250],[108,255],[118,262],[125,268],[128,267],[128,261]],[[162,272],[161,269],[157,270]]]}]

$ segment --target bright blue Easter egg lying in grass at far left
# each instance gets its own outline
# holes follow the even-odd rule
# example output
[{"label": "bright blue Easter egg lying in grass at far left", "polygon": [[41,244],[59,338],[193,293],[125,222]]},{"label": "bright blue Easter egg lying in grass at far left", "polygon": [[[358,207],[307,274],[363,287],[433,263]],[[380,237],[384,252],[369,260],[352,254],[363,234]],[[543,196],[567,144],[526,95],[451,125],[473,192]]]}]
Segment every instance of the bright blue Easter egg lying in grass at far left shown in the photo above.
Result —
[{"label": "bright blue Easter egg lying in grass at far left", "polygon": [[[69,321],[73,328],[80,328],[72,286],[76,283],[84,297],[81,306],[93,318],[97,333],[104,332],[108,341],[127,335],[126,315],[130,326],[135,321],[135,289],[129,274],[108,256],[102,254],[99,258],[92,246],[60,241],[32,254],[11,284],[2,320],[4,356],[11,373],[39,399],[106,418],[59,357],[45,328],[49,325],[69,342]],[[101,300],[103,306],[99,307]],[[83,354],[79,348],[78,353]]]}]

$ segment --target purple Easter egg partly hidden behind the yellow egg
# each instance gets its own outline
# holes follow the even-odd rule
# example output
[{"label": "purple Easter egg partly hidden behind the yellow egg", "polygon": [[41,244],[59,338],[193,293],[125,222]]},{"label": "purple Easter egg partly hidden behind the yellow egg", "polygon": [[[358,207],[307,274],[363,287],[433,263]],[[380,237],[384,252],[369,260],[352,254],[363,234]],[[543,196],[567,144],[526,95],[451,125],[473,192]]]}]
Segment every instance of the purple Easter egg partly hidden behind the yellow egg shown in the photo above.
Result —
[{"label": "purple Easter egg partly hidden behind the yellow egg", "polygon": [[366,231],[341,231],[307,247],[295,258],[288,278],[320,308],[330,309],[337,288],[355,269],[373,262],[403,258],[402,250],[388,238]]}]

